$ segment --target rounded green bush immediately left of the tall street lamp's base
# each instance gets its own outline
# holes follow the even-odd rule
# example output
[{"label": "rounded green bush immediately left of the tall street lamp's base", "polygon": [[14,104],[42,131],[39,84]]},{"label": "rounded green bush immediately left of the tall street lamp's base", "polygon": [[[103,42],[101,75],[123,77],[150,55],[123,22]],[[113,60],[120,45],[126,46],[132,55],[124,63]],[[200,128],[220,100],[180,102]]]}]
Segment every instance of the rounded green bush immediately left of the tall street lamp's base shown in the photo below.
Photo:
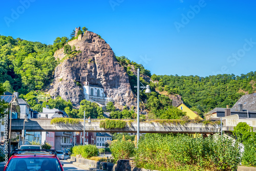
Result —
[{"label": "rounded green bush immediately left of the tall street lamp's base", "polygon": [[114,161],[118,159],[130,159],[135,154],[135,146],[131,141],[112,141],[110,150]]}]

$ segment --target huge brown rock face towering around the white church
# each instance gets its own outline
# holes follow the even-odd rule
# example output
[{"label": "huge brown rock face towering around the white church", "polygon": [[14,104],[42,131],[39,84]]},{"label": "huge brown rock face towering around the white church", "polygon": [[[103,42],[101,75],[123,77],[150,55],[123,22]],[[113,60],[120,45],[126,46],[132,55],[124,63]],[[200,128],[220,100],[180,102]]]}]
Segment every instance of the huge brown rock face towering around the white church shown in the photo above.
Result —
[{"label": "huge brown rock face towering around the white church", "polygon": [[[93,32],[84,32],[81,40],[69,42],[81,53],[73,57],[63,54],[63,48],[56,51],[55,58],[60,59],[55,69],[54,80],[50,86],[53,97],[61,96],[79,106],[83,99],[83,89],[76,81],[85,81],[104,88],[107,97],[111,97],[116,106],[132,106],[136,102],[128,75],[116,60],[114,53],[106,42]],[[65,57],[66,56],[66,57]]]}]

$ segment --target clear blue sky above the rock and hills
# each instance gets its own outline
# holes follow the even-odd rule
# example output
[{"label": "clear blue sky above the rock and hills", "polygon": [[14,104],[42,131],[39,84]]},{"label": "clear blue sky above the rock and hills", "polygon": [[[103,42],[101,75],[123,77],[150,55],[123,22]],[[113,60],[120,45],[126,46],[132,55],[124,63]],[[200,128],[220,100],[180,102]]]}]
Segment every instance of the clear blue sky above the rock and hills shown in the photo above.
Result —
[{"label": "clear blue sky above the rock and hills", "polygon": [[53,44],[86,26],[152,74],[256,71],[254,1],[4,1],[0,34]]}]

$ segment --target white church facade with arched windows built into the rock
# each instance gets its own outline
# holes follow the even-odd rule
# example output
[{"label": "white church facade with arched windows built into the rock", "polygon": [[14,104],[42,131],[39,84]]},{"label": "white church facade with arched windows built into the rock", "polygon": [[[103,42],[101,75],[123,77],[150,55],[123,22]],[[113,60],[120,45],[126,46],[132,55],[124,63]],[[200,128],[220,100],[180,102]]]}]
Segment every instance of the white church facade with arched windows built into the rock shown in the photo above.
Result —
[{"label": "white church facade with arched windows built into the rock", "polygon": [[113,101],[112,98],[106,97],[104,89],[93,84],[89,84],[89,81],[83,82],[83,95],[84,99],[92,102],[97,102],[101,105],[106,105],[109,101]]}]

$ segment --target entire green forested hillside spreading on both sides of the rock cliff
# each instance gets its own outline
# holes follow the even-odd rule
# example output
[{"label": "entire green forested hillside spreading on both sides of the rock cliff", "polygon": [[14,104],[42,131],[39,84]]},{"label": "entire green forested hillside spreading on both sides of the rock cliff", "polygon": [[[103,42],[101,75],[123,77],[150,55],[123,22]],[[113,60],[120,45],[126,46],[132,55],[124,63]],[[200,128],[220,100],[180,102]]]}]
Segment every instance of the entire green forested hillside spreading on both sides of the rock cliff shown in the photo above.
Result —
[{"label": "entire green forested hillside spreading on both sides of the rock cliff", "polygon": [[[71,39],[74,36],[71,36]],[[44,90],[53,79],[54,69],[58,62],[53,54],[65,46],[67,37],[57,37],[53,45],[32,42],[11,36],[0,36],[0,83],[9,91],[18,91],[20,97],[26,99],[32,109],[41,112],[42,107],[50,105],[52,108],[65,110],[71,117],[79,117],[81,111],[72,108],[72,103],[58,97],[53,100]],[[150,84],[151,94],[140,93],[140,109],[150,118],[181,118],[184,113],[172,107],[172,100],[164,94],[179,94],[184,103],[201,116],[216,107],[230,107],[244,94],[256,92],[256,72],[235,76],[223,74],[217,76],[178,76],[151,75],[142,65],[116,56],[117,61],[124,67],[129,76],[132,91],[136,94],[137,69],[140,68],[140,81]],[[152,81],[150,81],[152,79]],[[83,102],[90,106],[89,115],[93,111],[97,114],[92,118],[103,117],[102,111],[93,103]],[[113,104],[109,104],[113,106]],[[109,108],[110,109],[110,108]],[[134,118],[134,109],[127,109],[120,113],[114,106],[111,110],[112,118]],[[145,112],[146,111],[146,112]]]}]

